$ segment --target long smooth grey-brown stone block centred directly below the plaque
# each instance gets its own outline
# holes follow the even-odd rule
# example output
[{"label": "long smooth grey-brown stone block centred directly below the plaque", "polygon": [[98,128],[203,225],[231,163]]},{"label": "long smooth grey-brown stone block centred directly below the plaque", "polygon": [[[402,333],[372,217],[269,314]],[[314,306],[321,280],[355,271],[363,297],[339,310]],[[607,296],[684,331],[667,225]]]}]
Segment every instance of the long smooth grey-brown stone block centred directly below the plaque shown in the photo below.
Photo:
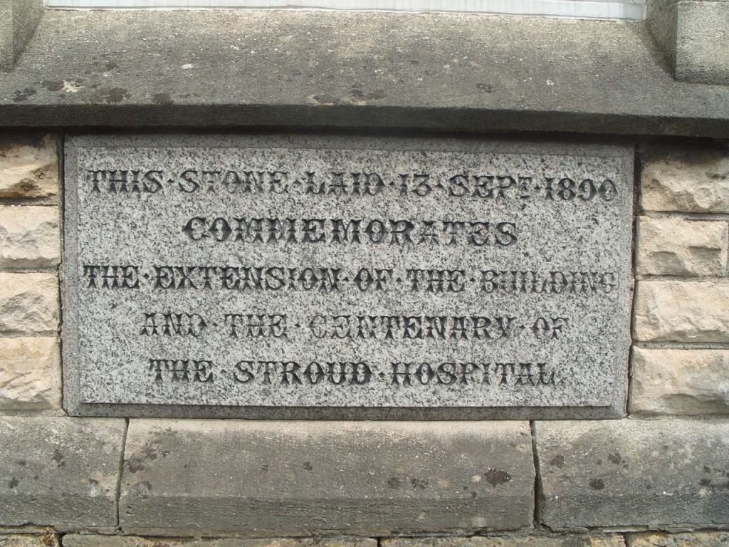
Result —
[{"label": "long smooth grey-brown stone block centred directly below the plaque", "polygon": [[132,420],[125,533],[294,536],[516,529],[527,422]]}]

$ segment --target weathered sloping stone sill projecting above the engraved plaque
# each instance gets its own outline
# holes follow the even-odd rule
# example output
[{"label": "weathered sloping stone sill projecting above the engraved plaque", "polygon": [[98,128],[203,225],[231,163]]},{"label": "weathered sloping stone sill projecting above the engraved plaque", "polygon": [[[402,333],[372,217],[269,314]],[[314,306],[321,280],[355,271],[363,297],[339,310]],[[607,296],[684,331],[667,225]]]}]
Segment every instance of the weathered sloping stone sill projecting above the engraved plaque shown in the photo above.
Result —
[{"label": "weathered sloping stone sill projecting above the engraved plaque", "polygon": [[47,11],[0,125],[729,137],[644,23],[365,12]]}]

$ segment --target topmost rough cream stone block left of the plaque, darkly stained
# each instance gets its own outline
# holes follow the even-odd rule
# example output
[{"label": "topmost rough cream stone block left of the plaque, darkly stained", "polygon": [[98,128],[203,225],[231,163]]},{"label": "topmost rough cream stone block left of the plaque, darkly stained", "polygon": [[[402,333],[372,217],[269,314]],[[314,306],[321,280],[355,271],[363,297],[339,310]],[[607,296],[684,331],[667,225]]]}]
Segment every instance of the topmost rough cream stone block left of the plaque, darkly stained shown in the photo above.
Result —
[{"label": "topmost rough cream stone block left of the plaque, darkly stained", "polygon": [[44,198],[58,194],[55,136],[0,136],[0,198]]}]

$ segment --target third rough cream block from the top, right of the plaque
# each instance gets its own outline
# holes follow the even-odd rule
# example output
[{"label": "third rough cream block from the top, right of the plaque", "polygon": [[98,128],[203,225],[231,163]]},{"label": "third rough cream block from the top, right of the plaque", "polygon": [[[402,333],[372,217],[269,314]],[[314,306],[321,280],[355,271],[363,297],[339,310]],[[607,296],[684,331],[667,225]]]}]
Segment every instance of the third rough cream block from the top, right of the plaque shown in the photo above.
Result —
[{"label": "third rough cream block from the top, right of the plaque", "polygon": [[729,284],[639,282],[635,316],[640,341],[729,342]]}]

